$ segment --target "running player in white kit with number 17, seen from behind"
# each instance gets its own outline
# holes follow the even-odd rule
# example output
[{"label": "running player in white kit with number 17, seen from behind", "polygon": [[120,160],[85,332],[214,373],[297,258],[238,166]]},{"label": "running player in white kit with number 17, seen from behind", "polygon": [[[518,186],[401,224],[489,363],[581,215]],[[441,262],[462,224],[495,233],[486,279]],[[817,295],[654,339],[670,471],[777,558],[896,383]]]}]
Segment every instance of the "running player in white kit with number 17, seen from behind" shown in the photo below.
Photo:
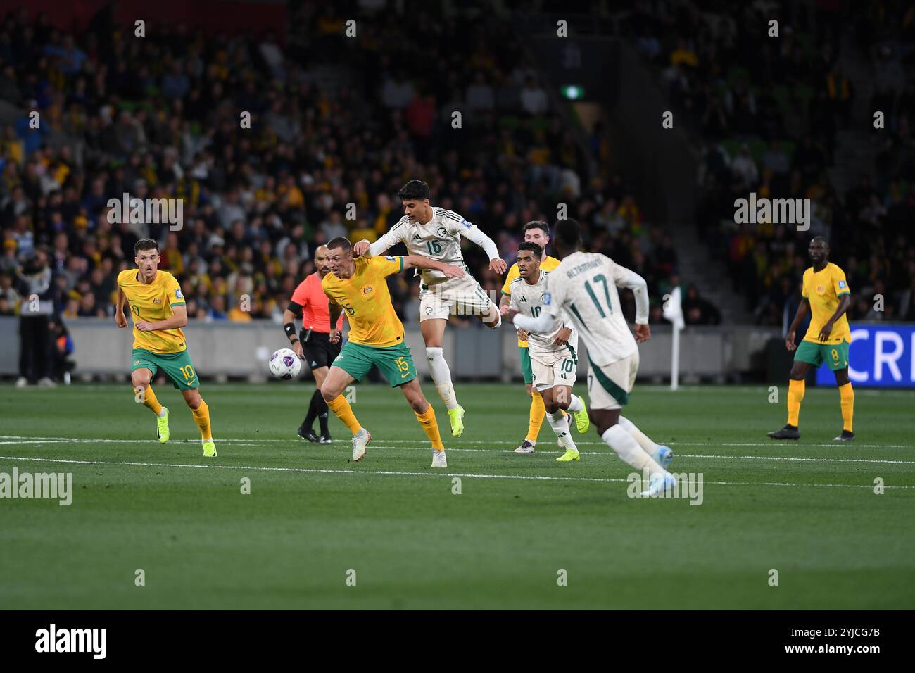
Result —
[{"label": "running player in white kit with number 17, seen from behind", "polygon": [[[516,327],[534,332],[555,329],[563,313],[587,345],[590,370],[587,396],[597,434],[619,458],[650,474],[649,489],[642,495],[673,488],[673,474],[665,469],[673,451],[655,444],[628,419],[620,416],[629,402],[639,371],[639,347],[648,341],[648,287],[644,278],[619,266],[606,255],[578,252],[581,246],[575,220],[560,220],[554,227],[554,247],[562,262],[547,278],[544,309],[536,318],[509,310]],[[617,287],[630,288],[635,296],[636,338],[619,306]]]}]

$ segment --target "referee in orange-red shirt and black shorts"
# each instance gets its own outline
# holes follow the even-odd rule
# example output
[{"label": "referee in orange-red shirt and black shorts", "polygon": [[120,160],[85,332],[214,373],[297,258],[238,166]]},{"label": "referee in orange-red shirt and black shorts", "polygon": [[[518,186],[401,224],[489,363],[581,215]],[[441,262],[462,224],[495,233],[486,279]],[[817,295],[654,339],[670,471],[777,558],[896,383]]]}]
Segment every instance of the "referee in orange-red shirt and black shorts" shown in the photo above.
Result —
[{"label": "referee in orange-red shirt and black shorts", "polygon": [[[283,330],[286,338],[303,360],[311,366],[311,373],[315,376],[314,394],[308,404],[308,412],[302,425],[298,428],[298,436],[303,440],[317,441],[329,444],[330,432],[328,430],[328,405],[321,396],[321,384],[328,375],[328,367],[340,353],[339,343],[330,342],[330,314],[328,313],[328,297],[321,288],[321,280],[328,275],[328,246],[319,245],[315,251],[315,268],[318,270],[298,284],[292,294],[289,306],[283,312]],[[302,331],[296,336],[296,316],[302,316]],[[343,328],[343,316],[337,320],[337,331]],[[321,424],[321,436],[315,434],[312,425],[315,418]]]}]

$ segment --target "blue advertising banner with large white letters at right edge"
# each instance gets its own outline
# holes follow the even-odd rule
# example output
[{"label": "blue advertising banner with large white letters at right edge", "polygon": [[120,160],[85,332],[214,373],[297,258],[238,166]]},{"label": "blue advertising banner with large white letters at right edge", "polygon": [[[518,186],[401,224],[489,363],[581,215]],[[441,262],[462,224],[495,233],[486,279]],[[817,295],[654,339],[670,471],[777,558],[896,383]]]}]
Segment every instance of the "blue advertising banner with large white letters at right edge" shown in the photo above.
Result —
[{"label": "blue advertising banner with large white letters at right edge", "polygon": [[[853,385],[915,388],[915,325],[852,325],[848,378]],[[835,385],[825,364],[816,385]]]}]

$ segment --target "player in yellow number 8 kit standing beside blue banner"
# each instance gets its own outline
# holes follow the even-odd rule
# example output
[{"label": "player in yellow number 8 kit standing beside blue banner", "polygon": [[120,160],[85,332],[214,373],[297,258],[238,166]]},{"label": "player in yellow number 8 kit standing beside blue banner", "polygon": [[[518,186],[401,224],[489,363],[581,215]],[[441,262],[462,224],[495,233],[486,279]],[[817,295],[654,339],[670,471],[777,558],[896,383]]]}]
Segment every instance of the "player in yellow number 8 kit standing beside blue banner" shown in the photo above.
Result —
[{"label": "player in yellow number 8 kit standing beside blue banner", "polygon": [[[791,380],[788,382],[788,424],[768,433],[773,440],[799,440],[798,417],[804,393],[804,378],[810,368],[823,361],[833,370],[839,386],[842,407],[842,434],[834,441],[852,441],[852,416],[855,413],[855,391],[848,379],[848,344],[852,341],[845,310],[851,304],[851,290],[845,271],[829,261],[829,244],[823,236],[814,236],[807,249],[813,266],[803,272],[801,305],[788,328],[785,345],[794,351]],[[794,344],[795,332],[808,313],[813,313],[810,327],[801,345]]]}]

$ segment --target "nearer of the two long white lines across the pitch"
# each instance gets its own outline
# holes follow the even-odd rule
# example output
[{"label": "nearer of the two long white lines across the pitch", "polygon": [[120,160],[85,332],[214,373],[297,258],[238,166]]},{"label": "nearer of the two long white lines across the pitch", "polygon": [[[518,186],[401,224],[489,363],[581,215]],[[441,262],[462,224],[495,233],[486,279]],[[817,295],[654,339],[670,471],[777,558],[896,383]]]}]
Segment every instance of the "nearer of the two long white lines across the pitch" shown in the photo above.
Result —
[{"label": "nearer of the two long white lines across the pitch", "polygon": [[[516,479],[529,482],[600,482],[600,483],[628,483],[628,479],[598,479],[597,477],[550,477],[537,474],[477,474],[473,472],[401,472],[393,470],[328,470],[310,467],[264,467],[258,465],[190,465],[179,462],[138,462],[138,461],[76,461],[61,458],[30,458],[27,456],[0,456],[0,461],[31,461],[54,462],[76,465],[127,465],[131,467],[174,467],[199,470],[256,470],[260,472],[308,472],[317,474],[375,474],[382,476],[404,477],[466,477],[468,479]],[[716,486],[793,486],[795,488],[867,488],[873,489],[871,483],[787,483],[787,482],[708,482],[696,483],[713,484]],[[909,485],[887,484],[884,488],[915,489]]]}]

